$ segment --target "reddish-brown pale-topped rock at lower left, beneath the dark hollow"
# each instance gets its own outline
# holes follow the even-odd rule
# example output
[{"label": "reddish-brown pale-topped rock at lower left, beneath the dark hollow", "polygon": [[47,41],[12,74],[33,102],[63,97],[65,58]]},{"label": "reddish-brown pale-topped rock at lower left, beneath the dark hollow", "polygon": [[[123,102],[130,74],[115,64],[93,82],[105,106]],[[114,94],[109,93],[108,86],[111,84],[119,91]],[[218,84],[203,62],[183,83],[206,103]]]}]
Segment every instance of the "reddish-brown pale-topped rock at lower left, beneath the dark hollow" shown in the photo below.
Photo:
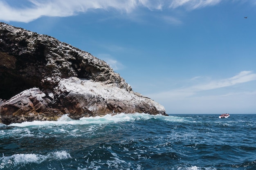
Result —
[{"label": "reddish-brown pale-topped rock at lower left, beneath the dark hollow", "polygon": [[12,97],[0,108],[0,121],[3,124],[21,123],[34,120],[56,120],[63,113],[49,108],[51,102],[39,88],[30,88]]}]

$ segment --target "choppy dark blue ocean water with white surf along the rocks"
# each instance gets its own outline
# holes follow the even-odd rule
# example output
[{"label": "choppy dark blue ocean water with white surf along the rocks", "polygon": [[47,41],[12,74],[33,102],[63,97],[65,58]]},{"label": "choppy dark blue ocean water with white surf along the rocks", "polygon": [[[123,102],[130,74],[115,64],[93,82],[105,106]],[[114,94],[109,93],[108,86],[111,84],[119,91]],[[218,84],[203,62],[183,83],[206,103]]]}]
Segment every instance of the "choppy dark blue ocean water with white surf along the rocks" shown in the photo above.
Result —
[{"label": "choppy dark blue ocean water with white surf along the rocks", "polygon": [[0,124],[0,170],[256,170],[256,115]]}]

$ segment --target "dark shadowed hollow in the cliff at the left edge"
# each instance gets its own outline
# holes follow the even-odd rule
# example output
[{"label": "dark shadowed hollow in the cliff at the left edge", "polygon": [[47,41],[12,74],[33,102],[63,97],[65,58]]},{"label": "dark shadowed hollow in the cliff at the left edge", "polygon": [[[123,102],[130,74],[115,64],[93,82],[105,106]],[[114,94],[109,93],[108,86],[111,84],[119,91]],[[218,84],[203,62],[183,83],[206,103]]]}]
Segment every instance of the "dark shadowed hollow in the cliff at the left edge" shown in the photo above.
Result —
[{"label": "dark shadowed hollow in the cliff at the left edge", "polygon": [[[34,86],[40,87],[40,77],[36,77],[36,66],[24,58],[27,66],[20,57],[0,52],[0,98],[10,99],[12,96]],[[35,62],[34,62],[35,63]],[[36,65],[36,64],[35,64]]]}]

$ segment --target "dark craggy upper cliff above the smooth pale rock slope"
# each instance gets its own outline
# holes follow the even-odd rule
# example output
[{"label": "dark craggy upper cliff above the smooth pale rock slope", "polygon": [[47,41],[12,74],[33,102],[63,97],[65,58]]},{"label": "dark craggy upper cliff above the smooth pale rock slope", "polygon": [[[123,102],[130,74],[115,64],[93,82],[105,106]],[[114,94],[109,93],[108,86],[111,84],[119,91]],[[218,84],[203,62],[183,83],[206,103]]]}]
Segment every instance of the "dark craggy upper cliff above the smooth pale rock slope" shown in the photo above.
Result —
[{"label": "dark craggy upper cliff above the smooth pale rock slope", "polygon": [[0,91],[4,93],[0,96],[5,99],[27,87],[53,88],[60,78],[72,76],[117,83],[131,90],[106,62],[90,53],[4,23],[0,24],[0,69]]}]

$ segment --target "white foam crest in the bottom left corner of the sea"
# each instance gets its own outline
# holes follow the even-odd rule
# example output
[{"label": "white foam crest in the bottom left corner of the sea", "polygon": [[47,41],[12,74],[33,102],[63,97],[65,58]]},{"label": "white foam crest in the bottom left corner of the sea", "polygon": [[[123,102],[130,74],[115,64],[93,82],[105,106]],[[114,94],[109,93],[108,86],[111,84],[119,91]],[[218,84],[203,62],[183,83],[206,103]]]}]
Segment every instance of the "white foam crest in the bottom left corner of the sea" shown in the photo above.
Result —
[{"label": "white foam crest in the bottom left corner of the sea", "polygon": [[72,158],[66,151],[50,152],[47,155],[39,154],[15,154],[9,157],[0,157],[0,169],[8,168],[27,163],[42,163],[46,160],[62,160]]}]

